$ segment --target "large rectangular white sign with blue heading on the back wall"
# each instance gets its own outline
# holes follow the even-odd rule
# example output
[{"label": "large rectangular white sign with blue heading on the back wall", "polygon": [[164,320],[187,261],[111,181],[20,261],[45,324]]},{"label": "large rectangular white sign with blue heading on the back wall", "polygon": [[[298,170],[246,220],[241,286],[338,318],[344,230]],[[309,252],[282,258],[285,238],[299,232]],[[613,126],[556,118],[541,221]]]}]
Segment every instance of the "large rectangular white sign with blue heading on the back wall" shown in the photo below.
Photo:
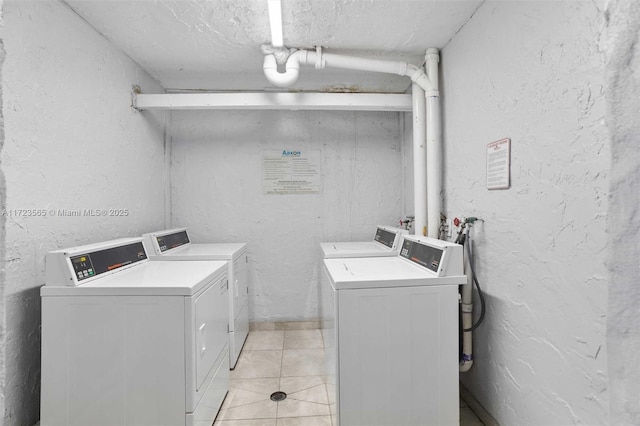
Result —
[{"label": "large rectangular white sign with blue heading on the back wall", "polygon": [[263,152],[264,194],[319,194],[321,161],[319,149]]}]

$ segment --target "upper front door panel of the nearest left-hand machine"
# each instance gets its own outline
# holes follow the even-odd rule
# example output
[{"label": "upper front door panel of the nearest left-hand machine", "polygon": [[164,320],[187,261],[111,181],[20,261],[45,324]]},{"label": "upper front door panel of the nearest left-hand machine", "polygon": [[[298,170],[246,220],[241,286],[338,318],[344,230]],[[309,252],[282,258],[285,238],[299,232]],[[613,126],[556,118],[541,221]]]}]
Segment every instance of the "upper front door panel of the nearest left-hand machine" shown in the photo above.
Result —
[{"label": "upper front door panel of the nearest left-hand machine", "polygon": [[226,275],[195,301],[196,391],[199,391],[227,344],[229,281]]}]

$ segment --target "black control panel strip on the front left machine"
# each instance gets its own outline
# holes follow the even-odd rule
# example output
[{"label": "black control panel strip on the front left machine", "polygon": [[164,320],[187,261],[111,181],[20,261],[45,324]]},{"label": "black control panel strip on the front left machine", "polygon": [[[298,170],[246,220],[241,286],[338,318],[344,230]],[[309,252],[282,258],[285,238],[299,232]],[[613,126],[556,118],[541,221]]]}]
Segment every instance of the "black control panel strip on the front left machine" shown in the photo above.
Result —
[{"label": "black control panel strip on the front left machine", "polygon": [[84,253],[70,257],[78,281],[145,260],[147,253],[142,242]]}]

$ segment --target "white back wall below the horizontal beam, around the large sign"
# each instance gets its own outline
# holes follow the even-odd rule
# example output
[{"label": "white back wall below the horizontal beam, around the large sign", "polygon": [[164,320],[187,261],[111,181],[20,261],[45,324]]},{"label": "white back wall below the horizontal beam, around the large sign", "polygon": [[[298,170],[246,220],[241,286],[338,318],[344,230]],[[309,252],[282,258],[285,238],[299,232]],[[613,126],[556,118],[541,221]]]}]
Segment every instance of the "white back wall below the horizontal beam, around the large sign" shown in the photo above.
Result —
[{"label": "white back wall below the horizontal beam, around the large sign", "polygon": [[[398,113],[172,113],[172,223],[248,243],[252,321],[314,320],[323,241],[370,240],[403,214]],[[263,195],[262,152],[322,152],[318,195]]]}]

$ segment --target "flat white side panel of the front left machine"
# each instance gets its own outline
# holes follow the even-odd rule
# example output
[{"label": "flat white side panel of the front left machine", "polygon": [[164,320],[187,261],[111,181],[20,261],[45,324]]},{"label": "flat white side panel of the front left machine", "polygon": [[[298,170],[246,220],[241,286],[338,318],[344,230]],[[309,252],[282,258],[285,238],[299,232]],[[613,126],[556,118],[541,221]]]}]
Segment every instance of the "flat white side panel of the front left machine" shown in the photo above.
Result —
[{"label": "flat white side panel of the front left machine", "polygon": [[43,426],[184,422],[183,297],[44,297],[42,325]]}]

